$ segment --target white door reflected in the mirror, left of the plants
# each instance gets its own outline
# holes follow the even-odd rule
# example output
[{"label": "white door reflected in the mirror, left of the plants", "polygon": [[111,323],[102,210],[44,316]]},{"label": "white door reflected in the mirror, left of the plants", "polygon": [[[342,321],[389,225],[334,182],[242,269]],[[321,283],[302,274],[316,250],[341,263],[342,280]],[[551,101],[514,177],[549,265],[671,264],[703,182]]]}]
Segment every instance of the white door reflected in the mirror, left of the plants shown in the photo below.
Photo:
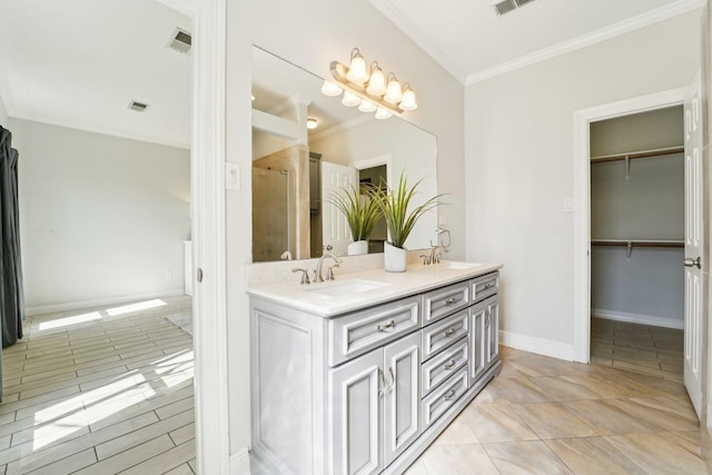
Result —
[{"label": "white door reflected in the mirror, left of the plants", "polygon": [[336,206],[329,202],[329,197],[343,188],[358,186],[358,170],[343,165],[322,160],[322,236],[324,250],[339,256],[346,256],[352,232],[348,221]]}]

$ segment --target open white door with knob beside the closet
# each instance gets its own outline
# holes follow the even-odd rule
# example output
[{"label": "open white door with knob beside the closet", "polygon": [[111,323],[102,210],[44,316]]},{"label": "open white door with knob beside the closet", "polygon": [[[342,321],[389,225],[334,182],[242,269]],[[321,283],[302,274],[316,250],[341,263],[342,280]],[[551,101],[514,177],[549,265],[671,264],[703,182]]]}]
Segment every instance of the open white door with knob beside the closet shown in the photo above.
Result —
[{"label": "open white door with knob beside the closet", "polygon": [[685,324],[684,382],[698,416],[702,402],[702,298],[704,273],[702,199],[702,103],[698,72],[684,103],[685,127]]}]

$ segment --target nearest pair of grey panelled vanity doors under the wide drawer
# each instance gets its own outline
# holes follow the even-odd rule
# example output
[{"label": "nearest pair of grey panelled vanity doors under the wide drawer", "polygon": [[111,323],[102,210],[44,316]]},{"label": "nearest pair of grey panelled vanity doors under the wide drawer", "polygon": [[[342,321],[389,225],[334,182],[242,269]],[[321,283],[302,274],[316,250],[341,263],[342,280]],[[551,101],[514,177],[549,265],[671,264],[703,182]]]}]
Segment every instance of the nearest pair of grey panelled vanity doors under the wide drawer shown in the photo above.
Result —
[{"label": "nearest pair of grey panelled vanity doors under the wide drawer", "polygon": [[328,473],[378,473],[421,435],[421,340],[400,338],[328,372]]}]

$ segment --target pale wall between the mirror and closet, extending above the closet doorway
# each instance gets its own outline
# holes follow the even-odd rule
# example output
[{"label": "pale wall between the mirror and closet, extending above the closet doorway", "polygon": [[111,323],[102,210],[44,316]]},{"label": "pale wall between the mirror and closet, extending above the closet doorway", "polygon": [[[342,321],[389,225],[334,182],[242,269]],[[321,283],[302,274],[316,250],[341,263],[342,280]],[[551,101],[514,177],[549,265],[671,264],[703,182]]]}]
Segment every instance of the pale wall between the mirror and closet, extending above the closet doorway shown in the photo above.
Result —
[{"label": "pale wall between the mirror and closet, extending above the closet doorway", "polygon": [[691,12],[466,88],[467,258],[505,265],[505,337],[573,356],[573,113],[691,83],[699,31]]}]

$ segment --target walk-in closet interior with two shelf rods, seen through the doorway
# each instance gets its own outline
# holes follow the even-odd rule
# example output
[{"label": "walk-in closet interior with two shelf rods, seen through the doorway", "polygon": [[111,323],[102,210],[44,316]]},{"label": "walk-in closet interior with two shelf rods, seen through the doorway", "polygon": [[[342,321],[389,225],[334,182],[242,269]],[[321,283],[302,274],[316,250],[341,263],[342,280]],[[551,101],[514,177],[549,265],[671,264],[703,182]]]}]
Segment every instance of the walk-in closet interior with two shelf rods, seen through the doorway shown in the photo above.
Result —
[{"label": "walk-in closet interior with two shelf rods, seen through the doorway", "polygon": [[[656,357],[657,348],[671,343],[665,365],[637,363],[682,373],[683,140],[682,106],[591,125],[594,363],[610,357],[616,366],[616,352],[609,347],[614,338],[632,347],[616,356]],[[655,331],[664,345],[655,342]]]}]

